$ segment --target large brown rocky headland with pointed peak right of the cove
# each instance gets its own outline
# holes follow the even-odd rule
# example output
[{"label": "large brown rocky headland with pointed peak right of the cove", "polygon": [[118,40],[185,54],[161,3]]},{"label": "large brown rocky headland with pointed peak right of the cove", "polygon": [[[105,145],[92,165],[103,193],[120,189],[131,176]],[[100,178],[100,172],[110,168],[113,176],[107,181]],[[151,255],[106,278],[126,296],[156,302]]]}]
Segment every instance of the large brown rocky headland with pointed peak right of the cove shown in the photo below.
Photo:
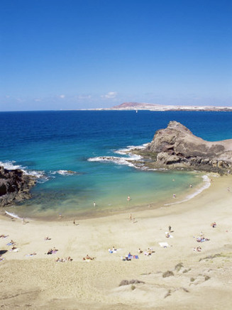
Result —
[{"label": "large brown rocky headland with pointed peak right of the cove", "polygon": [[232,139],[209,142],[193,135],[181,123],[170,121],[167,128],[155,133],[144,150],[145,157],[155,154],[155,161],[145,162],[156,168],[190,169],[231,173]]}]

